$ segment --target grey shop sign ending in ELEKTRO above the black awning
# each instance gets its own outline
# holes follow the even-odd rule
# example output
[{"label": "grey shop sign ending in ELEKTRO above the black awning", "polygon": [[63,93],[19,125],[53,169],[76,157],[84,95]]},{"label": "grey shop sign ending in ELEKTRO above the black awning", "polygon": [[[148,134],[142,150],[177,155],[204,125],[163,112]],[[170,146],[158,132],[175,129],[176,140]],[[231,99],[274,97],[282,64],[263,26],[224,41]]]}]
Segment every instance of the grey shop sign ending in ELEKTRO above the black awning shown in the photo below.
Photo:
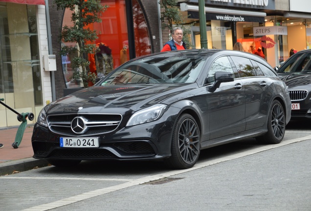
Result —
[{"label": "grey shop sign ending in ELEKTRO above the black awning", "polygon": [[[199,3],[199,0],[188,0]],[[205,5],[275,10],[275,0],[205,0]]]}]

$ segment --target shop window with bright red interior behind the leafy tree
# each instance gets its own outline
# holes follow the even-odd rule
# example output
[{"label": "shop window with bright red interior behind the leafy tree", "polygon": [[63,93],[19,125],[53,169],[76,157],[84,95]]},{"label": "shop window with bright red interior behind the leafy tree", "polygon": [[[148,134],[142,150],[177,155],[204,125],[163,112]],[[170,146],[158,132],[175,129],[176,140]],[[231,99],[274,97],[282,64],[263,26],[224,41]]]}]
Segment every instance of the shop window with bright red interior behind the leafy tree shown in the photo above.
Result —
[{"label": "shop window with bright red interior behind the leafy tree", "polygon": [[[106,76],[113,69],[130,60],[130,50],[134,50],[136,57],[150,54],[151,41],[148,32],[147,21],[138,0],[132,0],[133,5],[133,29],[135,49],[129,49],[128,27],[125,0],[102,0],[108,9],[102,14],[102,22],[94,23],[91,29],[96,30],[98,39],[95,44],[100,52],[89,55],[90,71],[97,77]],[[71,26],[72,11],[66,10],[63,26]],[[62,43],[63,45],[74,45],[75,43]],[[73,70],[70,61],[75,55],[63,57],[63,71],[67,87],[79,87],[80,84],[71,82]]]}]

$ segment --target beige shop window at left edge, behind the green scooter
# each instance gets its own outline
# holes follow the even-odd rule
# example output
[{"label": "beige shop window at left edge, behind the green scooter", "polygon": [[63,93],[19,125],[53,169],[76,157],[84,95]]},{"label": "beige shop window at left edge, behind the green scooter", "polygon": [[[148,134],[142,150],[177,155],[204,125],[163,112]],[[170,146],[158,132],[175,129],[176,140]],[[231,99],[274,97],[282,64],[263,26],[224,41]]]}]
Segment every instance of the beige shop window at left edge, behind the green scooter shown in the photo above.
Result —
[{"label": "beige shop window at left edge, behind the green scooter", "polygon": [[[36,14],[35,5],[0,2],[0,98],[35,116],[36,106],[43,105]],[[0,116],[0,127],[19,125],[2,105]]]}]

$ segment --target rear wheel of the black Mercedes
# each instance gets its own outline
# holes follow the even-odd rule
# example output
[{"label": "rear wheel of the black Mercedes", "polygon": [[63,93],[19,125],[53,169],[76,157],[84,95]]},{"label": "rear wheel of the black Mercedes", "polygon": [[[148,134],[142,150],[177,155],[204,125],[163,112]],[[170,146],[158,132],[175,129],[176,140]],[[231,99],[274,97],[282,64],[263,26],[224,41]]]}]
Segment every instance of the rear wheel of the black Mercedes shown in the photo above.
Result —
[{"label": "rear wheel of the black Mercedes", "polygon": [[267,133],[257,137],[257,141],[266,144],[279,144],[284,137],[286,118],[283,106],[278,100],[272,102],[268,114]]}]

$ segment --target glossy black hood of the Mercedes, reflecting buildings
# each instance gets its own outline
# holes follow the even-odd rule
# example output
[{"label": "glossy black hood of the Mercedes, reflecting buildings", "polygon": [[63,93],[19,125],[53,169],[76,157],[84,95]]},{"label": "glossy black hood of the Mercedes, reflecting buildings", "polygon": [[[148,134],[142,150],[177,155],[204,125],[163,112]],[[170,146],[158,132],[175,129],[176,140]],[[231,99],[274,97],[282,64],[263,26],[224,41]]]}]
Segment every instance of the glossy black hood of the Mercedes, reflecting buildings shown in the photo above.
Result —
[{"label": "glossy black hood of the Mercedes, reflecting buildings", "polygon": [[[101,113],[122,109],[139,110],[161,103],[178,94],[198,87],[197,84],[129,84],[92,86],[57,100],[48,108],[48,113]],[[178,97],[180,100],[180,97]],[[177,101],[177,100],[176,100]],[[175,102],[175,100],[170,100]]]}]

